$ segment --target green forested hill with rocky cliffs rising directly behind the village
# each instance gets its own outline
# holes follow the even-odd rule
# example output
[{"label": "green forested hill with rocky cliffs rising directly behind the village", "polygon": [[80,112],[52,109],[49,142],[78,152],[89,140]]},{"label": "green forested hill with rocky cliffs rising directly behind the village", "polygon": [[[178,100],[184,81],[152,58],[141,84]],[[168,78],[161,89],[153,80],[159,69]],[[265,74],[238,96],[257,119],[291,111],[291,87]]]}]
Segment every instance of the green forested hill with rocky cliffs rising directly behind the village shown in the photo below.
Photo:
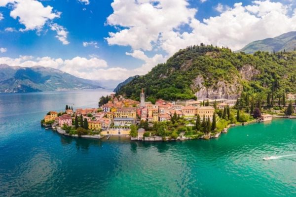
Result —
[{"label": "green forested hill with rocky cliffs rising directly behind the village", "polygon": [[274,98],[296,92],[296,52],[233,53],[227,48],[190,46],[181,49],[141,77],[120,89],[139,100],[141,88],[147,100],[236,99],[244,95]]}]

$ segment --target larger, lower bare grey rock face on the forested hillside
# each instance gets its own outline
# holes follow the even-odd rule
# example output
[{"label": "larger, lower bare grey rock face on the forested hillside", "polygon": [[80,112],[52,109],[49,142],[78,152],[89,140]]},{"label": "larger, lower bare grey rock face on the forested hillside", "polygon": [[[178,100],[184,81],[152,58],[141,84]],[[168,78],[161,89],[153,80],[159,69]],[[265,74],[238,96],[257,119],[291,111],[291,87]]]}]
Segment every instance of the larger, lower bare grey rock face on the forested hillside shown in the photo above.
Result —
[{"label": "larger, lower bare grey rock face on the forested hillside", "polygon": [[234,77],[231,84],[224,80],[219,80],[217,84],[205,87],[204,78],[201,75],[193,80],[191,88],[197,90],[195,93],[197,99],[237,99],[243,89],[238,77]]}]

